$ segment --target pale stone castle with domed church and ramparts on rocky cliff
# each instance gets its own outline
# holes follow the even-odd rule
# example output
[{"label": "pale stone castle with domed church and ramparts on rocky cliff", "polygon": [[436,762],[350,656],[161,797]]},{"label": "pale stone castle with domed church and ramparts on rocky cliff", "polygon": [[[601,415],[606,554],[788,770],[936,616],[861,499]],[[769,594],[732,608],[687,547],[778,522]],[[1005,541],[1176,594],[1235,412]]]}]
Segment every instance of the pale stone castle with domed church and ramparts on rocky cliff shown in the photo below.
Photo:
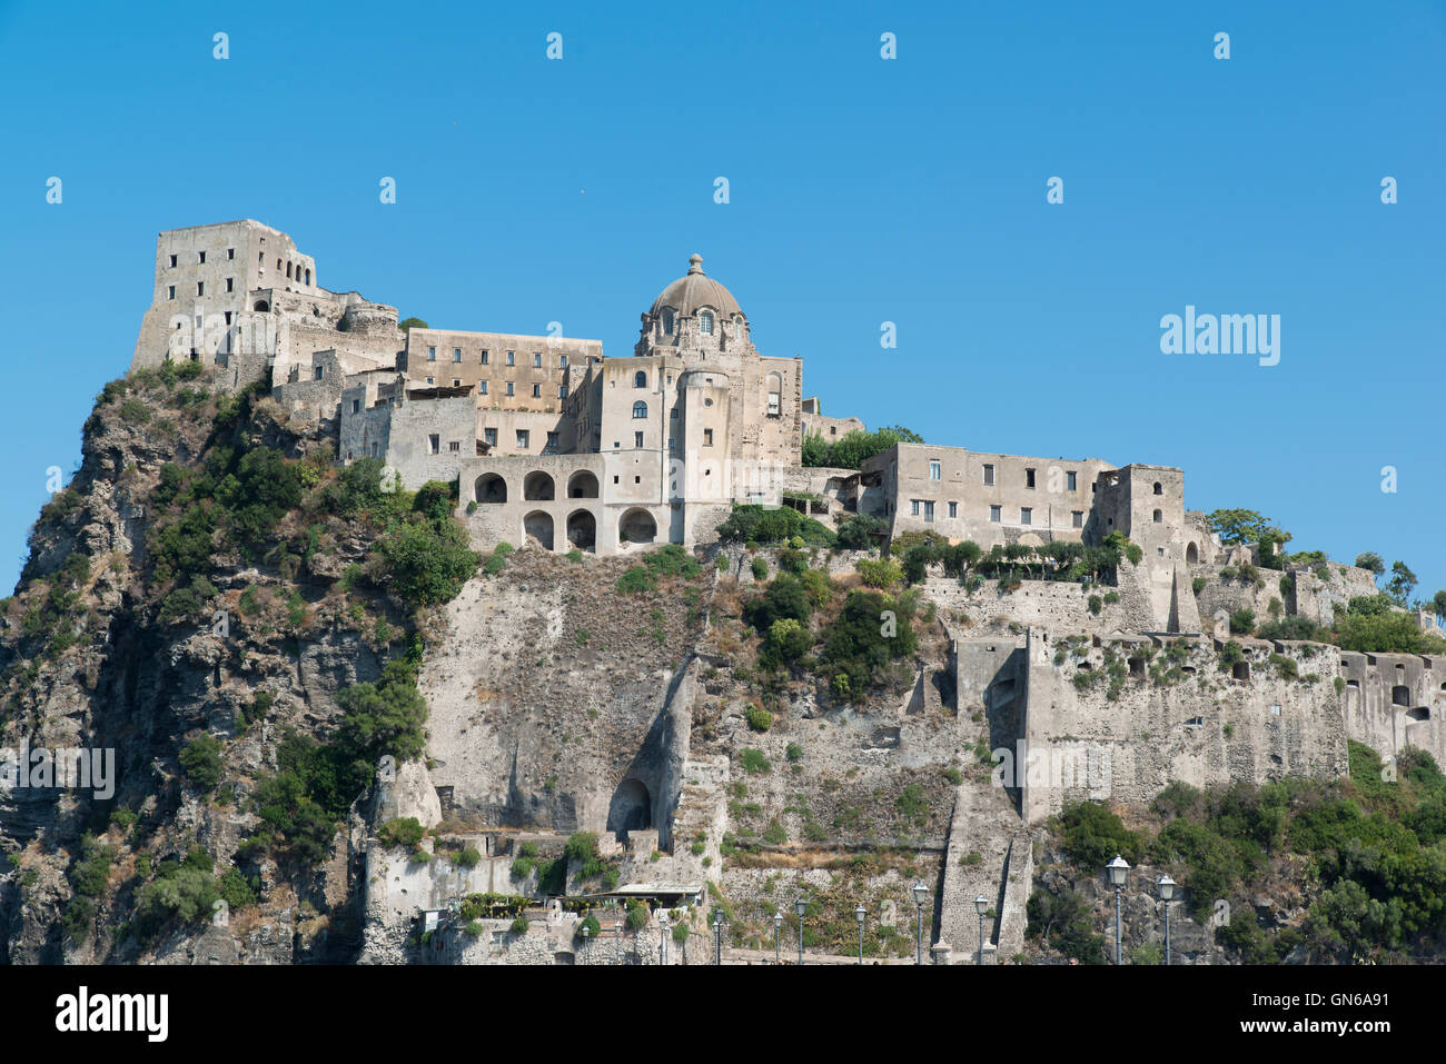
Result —
[{"label": "pale stone castle with domed church and ramparts on rocky cliff", "polygon": [[[698,256],[642,312],[633,351],[610,357],[600,341],[562,335],[402,331],[395,308],[321,288],[315,260],[256,221],[168,230],[156,241],[153,299],[132,367],[168,359],[202,361],[228,389],[268,380],[291,418],[333,435],[338,463],[379,460],[408,489],[457,483],[458,518],[480,548],[711,548],[733,503],[795,506],[827,525],[875,515],[894,533],[934,531],[986,549],[1126,535],[1144,557],[1121,565],[1099,601],[1058,581],[970,591],[931,574],[924,584],[949,626],[951,658],[943,678],[921,666],[905,732],[917,707],[941,698],[954,720],[982,720],[988,747],[1008,752],[1002,786],[1018,814],[1001,823],[967,784],[956,788],[946,938],[972,934],[970,899],[986,893],[1001,899],[991,943],[1006,950],[1022,940],[1027,831],[1066,801],[1148,801],[1170,781],[1339,776],[1348,740],[1387,759],[1414,746],[1446,762],[1446,662],[1241,636],[1238,656],[1222,656],[1231,612],[1329,623],[1375,584],[1351,565],[1288,564],[1272,603],[1274,572],[1268,584],[1235,575],[1259,561],[1258,549],[1223,546],[1203,513],[1186,510],[1180,468],[907,442],[859,470],[803,466],[805,435],[837,438],[863,422],[824,416],[805,398],[801,359],[753,347],[740,304]],[[852,571],[852,561],[840,564]],[[746,583],[748,567],[735,568]],[[975,740],[933,742],[967,749]],[[463,746],[458,739],[450,752],[457,765]],[[685,747],[658,763],[706,775]],[[448,772],[422,789],[437,784],[464,804],[469,788],[486,785]],[[706,807],[700,824],[726,823],[722,798],[693,795],[677,771],[629,772],[638,776],[628,769],[596,781],[587,807],[596,815],[580,827],[612,831],[607,810],[629,785],[646,798],[620,840],[651,833],[671,849],[669,827],[693,807]],[[704,791],[722,795],[722,785]],[[717,833],[704,834],[716,857]],[[962,862],[970,851],[983,860]],[[651,875],[698,883],[701,860],[677,847]]]}]

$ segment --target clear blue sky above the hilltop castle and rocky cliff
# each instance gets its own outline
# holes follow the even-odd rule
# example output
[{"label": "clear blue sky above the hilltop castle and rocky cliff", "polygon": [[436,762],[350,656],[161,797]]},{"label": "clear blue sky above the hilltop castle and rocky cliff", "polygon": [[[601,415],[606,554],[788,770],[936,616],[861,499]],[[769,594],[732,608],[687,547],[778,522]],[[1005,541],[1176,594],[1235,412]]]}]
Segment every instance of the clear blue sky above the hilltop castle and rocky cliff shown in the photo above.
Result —
[{"label": "clear blue sky above the hilltop castle and rocky cliff", "polygon": [[[0,3],[3,583],[156,233],[252,217],[403,317],[612,354],[698,252],[827,413],[1180,466],[1446,587],[1442,4],[1100,7]],[[1161,354],[1187,304],[1280,314],[1280,364]]]}]

